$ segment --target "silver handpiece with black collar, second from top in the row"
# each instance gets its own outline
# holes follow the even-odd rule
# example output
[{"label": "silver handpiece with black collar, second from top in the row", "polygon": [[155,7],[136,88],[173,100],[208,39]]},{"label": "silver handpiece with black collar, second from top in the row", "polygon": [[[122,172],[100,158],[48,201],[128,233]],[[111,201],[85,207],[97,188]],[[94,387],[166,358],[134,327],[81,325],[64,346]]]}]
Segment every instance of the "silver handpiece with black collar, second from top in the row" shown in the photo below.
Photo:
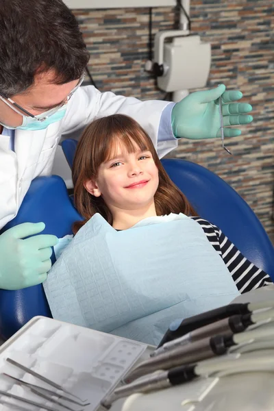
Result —
[{"label": "silver handpiece with black collar, second from top in the row", "polygon": [[253,314],[236,314],[234,316],[228,317],[227,319],[216,321],[215,323],[197,328],[192,332],[188,332],[188,334],[185,334],[180,338],[176,338],[175,340],[169,341],[169,343],[165,343],[164,345],[162,345],[162,347],[153,351],[153,353],[151,353],[151,357],[156,357],[160,353],[170,351],[175,347],[194,343],[197,340],[213,336],[214,334],[224,334],[227,332],[238,334],[239,332],[245,331],[245,329],[247,329],[249,325],[259,324],[261,321],[271,321],[273,319],[273,309],[269,309],[263,312],[255,312]]}]

